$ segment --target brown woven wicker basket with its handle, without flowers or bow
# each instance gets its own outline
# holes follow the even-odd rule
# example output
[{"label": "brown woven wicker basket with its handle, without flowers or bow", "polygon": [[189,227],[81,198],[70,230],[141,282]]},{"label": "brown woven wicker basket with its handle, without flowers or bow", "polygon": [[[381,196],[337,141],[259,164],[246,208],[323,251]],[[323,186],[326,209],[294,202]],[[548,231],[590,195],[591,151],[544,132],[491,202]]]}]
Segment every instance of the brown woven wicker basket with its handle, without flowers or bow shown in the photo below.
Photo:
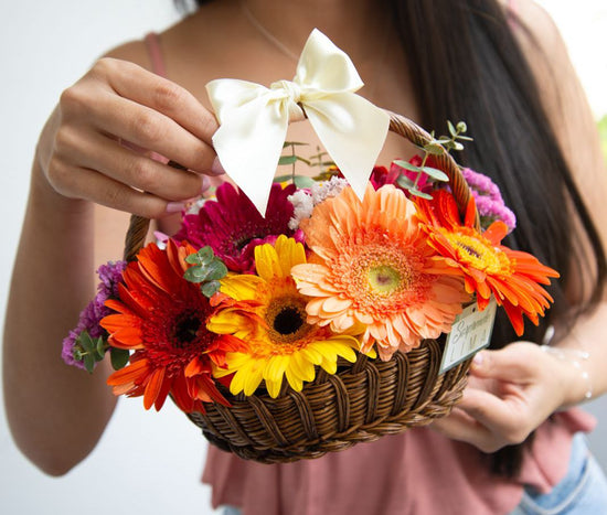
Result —
[{"label": "brown woven wicker basket with its handle, without flowers or bow", "polygon": [[[392,132],[418,146],[430,141],[413,121],[388,114]],[[447,153],[435,159],[449,176],[464,213],[470,192],[458,165]],[[148,226],[147,218],[131,217],[126,260],[135,259],[143,246]],[[340,358],[337,374],[317,367],[315,380],[301,391],[284,382],[277,398],[267,393],[233,396],[217,385],[232,407],[205,404],[205,414],[187,415],[211,443],[244,459],[280,463],[319,458],[448,415],[461,397],[470,361],[439,375],[443,350],[443,343],[425,340],[406,354],[396,352],[387,362],[362,354],[353,364]]]}]

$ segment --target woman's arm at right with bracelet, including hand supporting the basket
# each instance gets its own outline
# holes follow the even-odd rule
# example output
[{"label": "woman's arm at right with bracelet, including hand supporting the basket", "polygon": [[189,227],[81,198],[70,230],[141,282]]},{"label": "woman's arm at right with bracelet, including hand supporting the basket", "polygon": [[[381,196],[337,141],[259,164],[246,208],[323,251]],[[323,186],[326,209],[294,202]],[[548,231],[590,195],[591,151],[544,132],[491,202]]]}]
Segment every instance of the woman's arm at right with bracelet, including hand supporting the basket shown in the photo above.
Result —
[{"label": "woman's arm at right with bracelet, including hand supporting the basket", "polygon": [[[537,81],[541,97],[574,180],[607,247],[607,173],[596,124],[567,51],[550,17],[533,1],[518,2],[522,24],[515,30]],[[529,31],[529,32],[528,32]],[[589,243],[582,242],[590,254]],[[578,272],[568,296],[581,302],[592,273]],[[584,285],[584,288],[579,286]],[[555,345],[562,357],[535,344],[517,342],[500,351],[481,352],[471,368],[469,387],[450,417],[433,427],[448,437],[493,452],[522,442],[554,411],[607,391],[607,299],[579,318]],[[589,358],[579,353],[588,353]],[[575,366],[578,362],[579,367]],[[584,374],[587,373],[587,377]]]}]

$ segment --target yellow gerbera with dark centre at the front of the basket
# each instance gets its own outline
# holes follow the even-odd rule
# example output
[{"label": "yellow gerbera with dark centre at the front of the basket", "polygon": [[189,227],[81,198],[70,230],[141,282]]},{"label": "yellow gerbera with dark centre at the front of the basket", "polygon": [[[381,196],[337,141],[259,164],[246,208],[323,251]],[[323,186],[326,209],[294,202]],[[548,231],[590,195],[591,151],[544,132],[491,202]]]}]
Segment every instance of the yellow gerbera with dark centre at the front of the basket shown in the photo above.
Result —
[{"label": "yellow gerbera with dark centre at the front of the basket", "polygon": [[[207,324],[219,334],[232,334],[248,352],[227,353],[225,368],[215,376],[234,373],[230,391],[253,395],[262,379],[271,397],[277,397],[283,377],[300,391],[303,382],[316,376],[315,365],[329,374],[337,372],[338,356],[354,362],[359,341],[353,332],[333,334],[324,326],[306,322],[306,299],[295,285],[291,267],[306,262],[303,246],[281,235],[276,244],[255,248],[258,276],[239,275],[222,279],[227,298]],[[243,302],[244,301],[244,302]]]}]

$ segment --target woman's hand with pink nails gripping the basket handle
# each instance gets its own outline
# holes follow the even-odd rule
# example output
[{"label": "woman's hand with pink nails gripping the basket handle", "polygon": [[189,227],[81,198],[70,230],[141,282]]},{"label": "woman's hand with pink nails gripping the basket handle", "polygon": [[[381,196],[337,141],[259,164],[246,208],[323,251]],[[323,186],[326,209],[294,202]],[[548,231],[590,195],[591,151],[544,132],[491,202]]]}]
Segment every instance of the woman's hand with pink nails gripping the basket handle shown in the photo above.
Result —
[{"label": "woman's hand with pink nails gripping the basket handle", "polygon": [[[38,147],[51,186],[70,199],[158,218],[222,173],[213,114],[190,93],[136,64],[102,58],[67,88]],[[161,154],[190,171],[151,159]]]}]

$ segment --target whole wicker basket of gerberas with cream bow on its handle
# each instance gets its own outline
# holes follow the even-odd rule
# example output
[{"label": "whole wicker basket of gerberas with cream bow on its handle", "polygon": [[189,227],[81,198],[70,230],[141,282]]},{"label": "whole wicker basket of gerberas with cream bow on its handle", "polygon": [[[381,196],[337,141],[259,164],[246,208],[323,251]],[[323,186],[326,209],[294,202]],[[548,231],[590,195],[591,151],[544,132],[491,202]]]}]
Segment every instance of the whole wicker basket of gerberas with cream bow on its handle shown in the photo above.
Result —
[{"label": "whole wicker basket of gerberas with cream bow on its handle", "polygon": [[[129,262],[99,268],[65,361],[93,372],[109,353],[116,395],[157,410],[170,396],[212,443],[264,463],[447,415],[469,353],[443,335],[466,340],[457,328],[473,320],[488,340],[496,303],[521,335],[558,273],[502,244],[515,219],[499,189],[449,153],[470,140],[466,124],[436,138],[358,96],[362,85],[318,30],[292,82],[209,83],[213,146],[237,187],[194,203],[158,243],[143,245],[149,221],[131,217]],[[285,142],[305,118],[327,153]],[[388,130],[420,155],[373,168]],[[290,173],[275,178],[280,164]]]}]

